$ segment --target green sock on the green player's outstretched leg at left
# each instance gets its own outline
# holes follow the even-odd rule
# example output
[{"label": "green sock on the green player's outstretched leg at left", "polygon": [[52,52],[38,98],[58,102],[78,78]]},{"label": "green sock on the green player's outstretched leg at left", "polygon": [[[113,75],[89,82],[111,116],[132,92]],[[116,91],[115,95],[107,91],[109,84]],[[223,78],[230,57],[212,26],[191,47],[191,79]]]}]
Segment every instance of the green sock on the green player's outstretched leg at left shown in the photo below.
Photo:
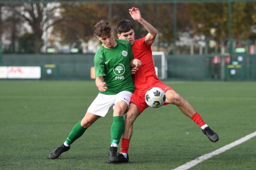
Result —
[{"label": "green sock on the green player's outstretched leg at left", "polygon": [[73,142],[75,142],[76,139],[78,139],[80,136],[84,134],[84,131],[87,128],[81,127],[81,121],[78,122],[73,129],[71,130],[70,134],[67,136],[66,144],[70,145]]}]

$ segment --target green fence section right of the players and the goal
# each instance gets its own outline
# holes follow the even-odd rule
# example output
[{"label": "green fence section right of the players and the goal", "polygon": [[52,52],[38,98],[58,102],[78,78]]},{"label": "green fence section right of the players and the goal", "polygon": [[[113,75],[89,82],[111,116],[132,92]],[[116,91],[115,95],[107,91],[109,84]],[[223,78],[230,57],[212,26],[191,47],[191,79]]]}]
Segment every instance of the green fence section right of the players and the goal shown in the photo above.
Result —
[{"label": "green fence section right of the players and the goal", "polygon": [[256,80],[256,55],[169,55],[168,78]]}]

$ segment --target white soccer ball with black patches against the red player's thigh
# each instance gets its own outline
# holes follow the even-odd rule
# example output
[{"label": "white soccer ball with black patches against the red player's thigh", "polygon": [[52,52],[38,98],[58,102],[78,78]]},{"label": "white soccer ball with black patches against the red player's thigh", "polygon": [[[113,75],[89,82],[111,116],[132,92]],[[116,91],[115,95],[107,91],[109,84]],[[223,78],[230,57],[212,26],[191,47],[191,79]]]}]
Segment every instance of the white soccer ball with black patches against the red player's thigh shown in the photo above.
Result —
[{"label": "white soccer ball with black patches against the red player's thigh", "polygon": [[145,102],[151,108],[161,107],[166,100],[166,94],[161,88],[151,88],[145,94]]}]

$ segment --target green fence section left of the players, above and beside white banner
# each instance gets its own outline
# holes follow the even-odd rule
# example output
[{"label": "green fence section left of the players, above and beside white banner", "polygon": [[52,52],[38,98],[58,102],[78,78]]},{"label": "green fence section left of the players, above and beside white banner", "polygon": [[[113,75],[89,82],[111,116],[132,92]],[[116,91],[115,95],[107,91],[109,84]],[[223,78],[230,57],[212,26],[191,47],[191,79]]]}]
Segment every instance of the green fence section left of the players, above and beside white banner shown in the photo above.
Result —
[{"label": "green fence section left of the players, above and beside white banner", "polygon": [[4,54],[5,66],[41,66],[42,79],[90,79],[94,54]]}]

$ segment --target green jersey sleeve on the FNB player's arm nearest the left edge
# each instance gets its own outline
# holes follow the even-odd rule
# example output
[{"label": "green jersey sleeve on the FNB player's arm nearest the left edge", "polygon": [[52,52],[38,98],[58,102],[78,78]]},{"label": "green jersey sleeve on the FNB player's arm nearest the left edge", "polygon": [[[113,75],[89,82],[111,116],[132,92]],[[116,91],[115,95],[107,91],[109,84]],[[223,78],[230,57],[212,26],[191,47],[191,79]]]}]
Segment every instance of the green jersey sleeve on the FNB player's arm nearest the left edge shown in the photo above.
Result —
[{"label": "green jersey sleeve on the FNB player's arm nearest the left edge", "polygon": [[106,76],[105,74],[105,65],[102,59],[102,54],[96,53],[93,59],[95,67],[95,77]]}]

